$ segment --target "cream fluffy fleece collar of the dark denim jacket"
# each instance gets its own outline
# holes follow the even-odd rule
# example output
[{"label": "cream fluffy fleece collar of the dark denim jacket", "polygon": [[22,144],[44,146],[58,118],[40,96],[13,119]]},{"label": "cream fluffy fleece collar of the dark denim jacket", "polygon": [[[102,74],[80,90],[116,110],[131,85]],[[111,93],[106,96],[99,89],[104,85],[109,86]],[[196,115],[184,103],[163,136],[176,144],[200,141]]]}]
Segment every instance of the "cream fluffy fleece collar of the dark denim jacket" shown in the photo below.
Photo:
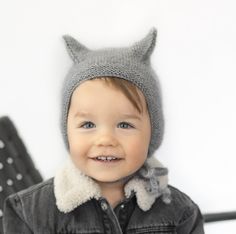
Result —
[{"label": "cream fluffy fleece collar of the dark denim jacket", "polygon": [[[147,159],[151,167],[163,167],[154,157]],[[168,184],[168,176],[160,176],[159,186],[165,188]],[[147,211],[151,208],[156,198],[145,190],[145,181],[134,177],[124,187],[125,197],[129,198],[135,192],[137,204],[140,209]],[[54,177],[54,193],[57,208],[64,213],[71,212],[81,204],[95,198],[102,197],[99,185],[90,177],[84,175],[69,158],[66,164],[58,169]]]}]

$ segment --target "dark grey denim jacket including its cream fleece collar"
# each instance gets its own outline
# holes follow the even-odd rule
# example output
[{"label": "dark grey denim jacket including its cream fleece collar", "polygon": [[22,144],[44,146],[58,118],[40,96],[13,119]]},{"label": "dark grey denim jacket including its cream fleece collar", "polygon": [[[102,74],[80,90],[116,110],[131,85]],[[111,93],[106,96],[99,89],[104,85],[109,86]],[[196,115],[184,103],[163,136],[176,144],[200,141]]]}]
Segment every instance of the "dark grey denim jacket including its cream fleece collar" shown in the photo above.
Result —
[{"label": "dark grey denim jacket including its cream fleece collar", "polygon": [[[158,164],[158,161],[152,161]],[[168,185],[171,202],[150,196],[142,180],[133,178],[125,198],[115,208],[101,196],[98,185],[68,163],[50,178],[10,195],[4,203],[5,234],[202,234],[199,207],[183,192]]]}]

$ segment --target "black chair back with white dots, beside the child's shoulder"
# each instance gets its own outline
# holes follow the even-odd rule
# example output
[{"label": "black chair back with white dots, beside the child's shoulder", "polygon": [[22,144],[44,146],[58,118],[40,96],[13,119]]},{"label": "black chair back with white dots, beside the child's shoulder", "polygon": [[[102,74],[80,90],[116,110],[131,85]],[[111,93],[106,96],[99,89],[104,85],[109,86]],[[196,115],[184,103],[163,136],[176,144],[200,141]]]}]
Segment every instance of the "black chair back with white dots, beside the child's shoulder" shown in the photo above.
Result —
[{"label": "black chair back with white dots, beside the child's shoulder", "polygon": [[42,180],[14,122],[8,116],[0,117],[0,233],[4,199]]}]

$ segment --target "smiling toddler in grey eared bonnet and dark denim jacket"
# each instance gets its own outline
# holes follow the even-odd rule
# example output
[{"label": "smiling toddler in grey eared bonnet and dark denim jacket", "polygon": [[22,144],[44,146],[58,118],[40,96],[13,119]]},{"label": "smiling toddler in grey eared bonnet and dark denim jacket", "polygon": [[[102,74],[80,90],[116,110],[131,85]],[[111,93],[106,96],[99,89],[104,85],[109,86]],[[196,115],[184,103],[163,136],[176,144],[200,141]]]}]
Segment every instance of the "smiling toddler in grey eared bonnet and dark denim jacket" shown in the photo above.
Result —
[{"label": "smiling toddler in grey eared bonnet and dark denim jacket", "polygon": [[74,62],[61,94],[70,156],[53,178],[5,200],[6,234],[204,233],[199,207],[154,157],[164,133],[156,34],[99,50],[63,36]]}]

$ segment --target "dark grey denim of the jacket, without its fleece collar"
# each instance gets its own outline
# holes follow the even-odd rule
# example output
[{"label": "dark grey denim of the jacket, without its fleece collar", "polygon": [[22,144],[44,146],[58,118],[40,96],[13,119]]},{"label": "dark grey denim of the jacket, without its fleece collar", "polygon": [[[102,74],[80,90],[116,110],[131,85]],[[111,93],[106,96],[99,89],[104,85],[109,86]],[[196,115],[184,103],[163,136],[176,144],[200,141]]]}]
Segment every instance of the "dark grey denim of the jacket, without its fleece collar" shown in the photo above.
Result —
[{"label": "dark grey denim of the jacket, without its fleece collar", "polygon": [[56,207],[53,178],[9,196],[4,203],[5,234],[202,234],[203,217],[184,193],[169,186],[172,202],[157,199],[146,212],[136,197],[124,199],[112,209],[105,198],[91,199],[65,214]]}]

